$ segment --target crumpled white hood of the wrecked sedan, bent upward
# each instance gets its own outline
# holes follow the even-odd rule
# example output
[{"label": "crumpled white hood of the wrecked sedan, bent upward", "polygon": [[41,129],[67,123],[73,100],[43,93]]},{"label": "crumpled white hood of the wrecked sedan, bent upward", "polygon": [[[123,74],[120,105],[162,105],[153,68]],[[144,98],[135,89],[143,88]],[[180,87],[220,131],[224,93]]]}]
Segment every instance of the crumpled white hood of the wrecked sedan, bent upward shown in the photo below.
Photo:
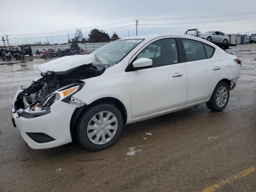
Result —
[{"label": "crumpled white hood of the wrecked sedan, bent upward", "polygon": [[[72,55],[64,56],[44,64],[41,64],[37,67],[40,73],[56,73],[56,74],[65,74],[75,68],[84,65],[91,64],[93,62],[99,62],[100,64],[108,64],[105,60],[100,58],[95,54],[90,55]],[[107,67],[106,67],[107,68]]]}]

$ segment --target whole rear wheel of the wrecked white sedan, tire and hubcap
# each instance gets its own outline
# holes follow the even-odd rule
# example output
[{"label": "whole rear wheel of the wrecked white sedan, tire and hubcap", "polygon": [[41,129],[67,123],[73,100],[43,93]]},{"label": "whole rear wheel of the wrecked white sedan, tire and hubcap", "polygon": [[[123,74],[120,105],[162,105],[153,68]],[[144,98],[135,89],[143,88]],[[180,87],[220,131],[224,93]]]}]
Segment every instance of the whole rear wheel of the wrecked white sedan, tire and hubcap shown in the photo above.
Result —
[{"label": "whole rear wheel of the wrecked white sedan, tire and hubcap", "polygon": [[[225,90],[224,94],[220,93],[219,89],[221,89],[221,88],[223,88],[223,90]],[[217,92],[220,93],[219,95],[221,95],[219,102],[224,102],[223,106],[221,106],[221,103],[217,103],[217,100],[218,100]],[[224,108],[226,108],[226,106],[228,104],[228,101],[229,101],[229,87],[228,87],[228,84],[224,81],[221,81],[214,88],[214,91],[212,93],[212,96],[211,96],[210,100],[208,102],[206,102],[206,106],[212,111],[222,111],[222,110],[224,110]]]}]

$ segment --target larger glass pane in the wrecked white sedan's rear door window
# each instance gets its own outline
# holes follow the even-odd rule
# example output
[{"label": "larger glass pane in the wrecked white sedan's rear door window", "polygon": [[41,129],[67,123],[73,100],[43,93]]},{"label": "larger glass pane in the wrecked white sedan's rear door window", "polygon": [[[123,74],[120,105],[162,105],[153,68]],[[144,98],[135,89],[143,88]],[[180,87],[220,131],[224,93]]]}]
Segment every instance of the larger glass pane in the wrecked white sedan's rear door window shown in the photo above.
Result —
[{"label": "larger glass pane in the wrecked white sedan's rear door window", "polygon": [[196,61],[207,58],[203,43],[190,39],[182,39],[182,42],[186,52],[187,61]]}]

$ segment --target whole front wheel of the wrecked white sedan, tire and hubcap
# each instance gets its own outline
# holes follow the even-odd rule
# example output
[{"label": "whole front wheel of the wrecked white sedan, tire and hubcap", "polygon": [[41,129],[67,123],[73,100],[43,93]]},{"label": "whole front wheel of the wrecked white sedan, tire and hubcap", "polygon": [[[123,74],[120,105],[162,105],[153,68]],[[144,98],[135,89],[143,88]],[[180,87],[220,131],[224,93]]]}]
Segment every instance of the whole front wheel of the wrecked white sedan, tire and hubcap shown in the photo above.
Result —
[{"label": "whole front wheel of the wrecked white sedan, tire and hubcap", "polygon": [[[98,126],[100,124],[95,123],[92,118],[97,117],[100,118],[100,114],[105,118],[108,117],[110,114],[111,116],[108,117],[108,120],[115,120],[113,125],[111,124],[106,124],[106,127],[104,124],[102,126]],[[114,118],[116,117],[116,118]],[[95,119],[94,118],[94,119]],[[97,119],[98,119],[97,118]],[[102,118],[103,122],[104,119]],[[100,123],[100,120],[98,120]],[[116,123],[118,124],[117,126]],[[98,127],[97,130],[93,130],[96,125]],[[89,127],[92,127],[91,130],[88,130]],[[107,129],[107,127],[115,127],[116,130],[111,130]],[[116,106],[112,104],[98,104],[95,106],[92,106],[88,108],[80,117],[78,120],[77,128],[76,128],[76,136],[78,142],[86,149],[91,150],[91,151],[100,151],[104,150],[106,148],[109,148],[110,146],[114,145],[114,143],[118,140],[118,138],[121,135],[122,132],[122,127],[123,127],[123,118],[120,110],[116,108]],[[114,134],[114,136],[109,137],[109,134],[107,131],[110,132],[110,134]],[[91,138],[88,137],[88,134],[91,134]],[[104,134],[105,140],[102,138],[102,134]],[[106,134],[106,135],[105,135]],[[95,136],[95,137],[94,137]],[[97,138],[98,138],[98,144],[97,143]],[[106,141],[106,142],[104,142]]]}]

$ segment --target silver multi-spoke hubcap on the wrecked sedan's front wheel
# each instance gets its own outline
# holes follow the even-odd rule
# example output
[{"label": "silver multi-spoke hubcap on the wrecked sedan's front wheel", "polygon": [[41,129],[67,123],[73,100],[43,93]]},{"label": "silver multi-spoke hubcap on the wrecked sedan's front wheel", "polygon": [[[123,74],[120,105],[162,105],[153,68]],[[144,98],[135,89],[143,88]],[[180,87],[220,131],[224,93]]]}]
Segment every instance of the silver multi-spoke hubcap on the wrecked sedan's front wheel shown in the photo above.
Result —
[{"label": "silver multi-spoke hubcap on the wrecked sedan's front wheel", "polygon": [[87,125],[89,140],[97,145],[109,142],[116,134],[118,121],[110,111],[101,111],[90,119]]}]

